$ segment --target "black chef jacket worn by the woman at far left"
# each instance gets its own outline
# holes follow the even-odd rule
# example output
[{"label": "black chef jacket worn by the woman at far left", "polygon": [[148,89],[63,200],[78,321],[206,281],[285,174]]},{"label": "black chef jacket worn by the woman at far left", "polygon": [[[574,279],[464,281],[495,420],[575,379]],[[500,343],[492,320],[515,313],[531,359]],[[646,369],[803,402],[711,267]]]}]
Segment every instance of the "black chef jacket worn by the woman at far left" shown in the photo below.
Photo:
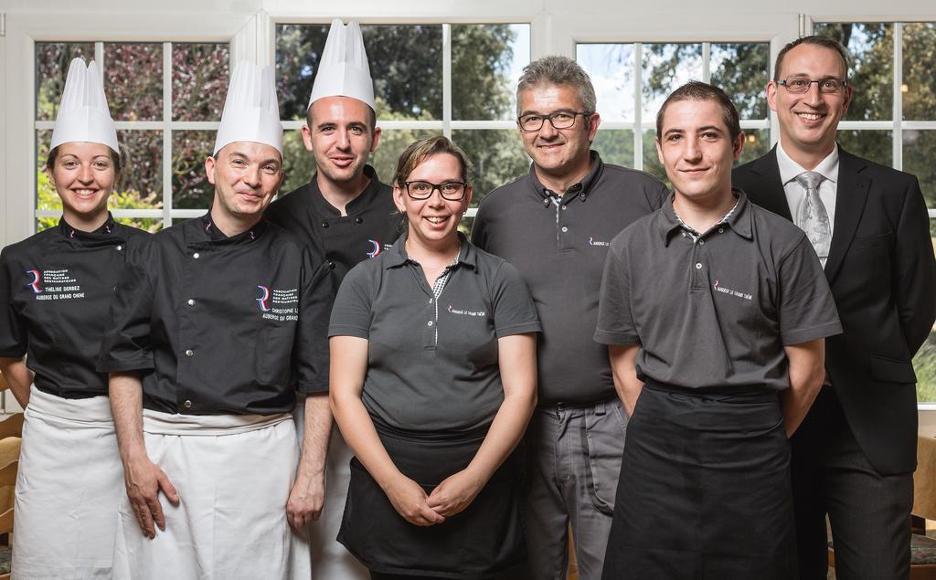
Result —
[{"label": "black chef jacket worn by the woman at far left", "polygon": [[114,284],[128,245],[149,234],[108,221],[82,232],[65,218],[57,227],[0,253],[0,356],[20,358],[36,387],[66,399],[107,395],[108,376],[95,370],[107,329]]}]

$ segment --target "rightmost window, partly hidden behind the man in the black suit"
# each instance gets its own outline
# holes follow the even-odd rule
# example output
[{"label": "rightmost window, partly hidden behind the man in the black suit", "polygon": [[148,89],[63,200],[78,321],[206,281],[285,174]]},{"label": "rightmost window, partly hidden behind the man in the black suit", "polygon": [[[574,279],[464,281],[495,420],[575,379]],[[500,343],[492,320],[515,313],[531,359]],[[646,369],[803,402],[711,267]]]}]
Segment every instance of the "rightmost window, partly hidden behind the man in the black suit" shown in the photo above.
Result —
[{"label": "rightmost window, partly hidden behind the man in the black suit", "polygon": [[[913,173],[936,234],[936,24],[933,22],[815,22],[852,56],[852,103],[840,124],[849,152]],[[934,238],[936,243],[936,238]],[[936,332],[914,358],[916,399],[936,401]]]}]

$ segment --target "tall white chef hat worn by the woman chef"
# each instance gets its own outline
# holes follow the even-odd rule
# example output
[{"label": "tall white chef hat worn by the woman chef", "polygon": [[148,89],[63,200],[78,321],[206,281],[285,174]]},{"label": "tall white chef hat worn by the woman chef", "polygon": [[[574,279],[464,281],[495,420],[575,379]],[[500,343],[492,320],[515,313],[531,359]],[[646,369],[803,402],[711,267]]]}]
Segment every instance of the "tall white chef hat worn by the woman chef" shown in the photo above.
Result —
[{"label": "tall white chef hat worn by the woman chef", "polygon": [[65,91],[62,92],[55,128],[52,129],[50,149],[72,141],[101,143],[114,152],[120,152],[117,127],[110,118],[101,73],[94,61],[85,65],[80,58],[72,59],[68,65]]}]

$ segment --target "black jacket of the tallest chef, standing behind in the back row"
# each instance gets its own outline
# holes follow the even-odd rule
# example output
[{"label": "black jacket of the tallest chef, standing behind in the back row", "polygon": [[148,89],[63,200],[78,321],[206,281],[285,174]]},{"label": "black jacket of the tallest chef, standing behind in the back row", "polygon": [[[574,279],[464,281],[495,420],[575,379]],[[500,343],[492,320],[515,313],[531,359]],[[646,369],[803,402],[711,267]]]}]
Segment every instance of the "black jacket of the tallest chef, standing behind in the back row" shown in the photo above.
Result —
[{"label": "black jacket of the tallest chef, standing behind in the back row", "polygon": [[296,191],[274,201],[266,217],[273,224],[313,245],[334,268],[340,282],[358,262],[388,250],[402,232],[402,215],[393,204],[393,190],[377,179],[371,166],[364,166],[371,179],[360,196],[344,210],[346,216],[322,196],[316,176]]}]

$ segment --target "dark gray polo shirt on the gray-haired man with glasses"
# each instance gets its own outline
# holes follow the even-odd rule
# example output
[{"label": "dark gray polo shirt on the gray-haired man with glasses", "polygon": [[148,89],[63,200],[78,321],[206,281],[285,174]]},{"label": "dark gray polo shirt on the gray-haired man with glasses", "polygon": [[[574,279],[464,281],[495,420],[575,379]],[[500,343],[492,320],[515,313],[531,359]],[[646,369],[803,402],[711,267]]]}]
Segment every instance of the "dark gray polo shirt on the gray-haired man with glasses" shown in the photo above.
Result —
[{"label": "dark gray polo shirt on the gray-haired man with glasses", "polygon": [[534,168],[481,201],[472,241],[519,269],[543,321],[537,353],[540,406],[615,397],[607,347],[592,341],[611,239],[660,207],[665,185],[602,163],[568,191],[550,192]]}]

